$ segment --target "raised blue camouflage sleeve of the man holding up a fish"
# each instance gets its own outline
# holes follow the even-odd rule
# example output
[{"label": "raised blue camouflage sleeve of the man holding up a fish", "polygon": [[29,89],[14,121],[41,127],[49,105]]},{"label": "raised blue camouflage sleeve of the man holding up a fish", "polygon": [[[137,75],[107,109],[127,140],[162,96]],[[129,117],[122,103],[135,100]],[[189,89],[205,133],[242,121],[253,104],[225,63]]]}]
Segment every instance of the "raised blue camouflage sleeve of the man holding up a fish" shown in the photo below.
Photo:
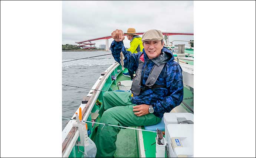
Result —
[{"label": "raised blue camouflage sleeve of the man holding up a fish", "polygon": [[120,65],[120,53],[122,51],[124,54],[124,67],[128,68],[131,71],[137,70],[139,54],[131,54],[131,52],[127,51],[124,47],[123,41],[116,42],[114,40],[110,46],[110,50],[115,61],[117,61]]}]

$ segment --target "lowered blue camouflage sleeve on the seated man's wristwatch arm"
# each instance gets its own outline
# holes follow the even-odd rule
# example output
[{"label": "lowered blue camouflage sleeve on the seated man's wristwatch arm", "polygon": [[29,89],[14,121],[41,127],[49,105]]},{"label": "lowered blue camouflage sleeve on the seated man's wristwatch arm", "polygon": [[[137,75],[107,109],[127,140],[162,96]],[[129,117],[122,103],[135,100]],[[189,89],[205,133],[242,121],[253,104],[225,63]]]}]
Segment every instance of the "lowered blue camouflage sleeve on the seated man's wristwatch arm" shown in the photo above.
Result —
[{"label": "lowered blue camouflage sleeve on the seated man's wristwatch arm", "polygon": [[183,100],[182,69],[178,63],[166,66],[166,87],[169,89],[170,95],[163,100],[157,100],[153,107],[155,112],[162,114],[164,112],[170,112],[174,107],[180,105]]}]

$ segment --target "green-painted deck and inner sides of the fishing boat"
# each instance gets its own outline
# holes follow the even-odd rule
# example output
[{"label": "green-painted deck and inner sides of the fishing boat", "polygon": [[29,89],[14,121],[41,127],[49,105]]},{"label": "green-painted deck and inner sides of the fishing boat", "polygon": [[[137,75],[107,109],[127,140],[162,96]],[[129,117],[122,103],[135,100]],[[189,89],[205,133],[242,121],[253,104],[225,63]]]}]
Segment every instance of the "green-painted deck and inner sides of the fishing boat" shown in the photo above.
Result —
[{"label": "green-painted deck and inner sides of the fishing boat", "polygon": [[[110,71],[110,70],[109,70]],[[110,71],[111,74],[105,75],[104,78],[105,84],[102,87],[102,90],[104,91],[114,91],[118,90],[118,87],[116,86],[119,81],[128,80],[130,81],[131,78],[125,77],[122,75],[123,72],[128,72],[127,69],[124,71],[121,70],[121,65],[118,65],[115,67],[113,71]],[[112,80],[111,76],[116,76],[116,80]],[[100,77],[101,79],[102,77]],[[100,80],[99,79],[99,80]],[[190,107],[193,109],[193,93],[191,93],[191,90],[188,89],[187,86],[184,86],[184,104],[182,103],[179,108],[180,111],[189,111],[189,109],[186,108],[186,105],[190,105]],[[99,105],[99,103],[102,103],[102,97],[104,92],[101,91],[100,94],[97,97],[96,103],[94,103],[91,112],[98,113],[100,107],[102,105]],[[181,110],[180,110],[181,109]],[[92,113],[90,112],[87,121],[92,121]],[[177,111],[176,111],[177,112]],[[99,122],[101,119],[101,116],[98,116],[95,120],[95,122]],[[94,141],[96,131],[95,128],[98,126],[98,124],[94,124],[92,126],[91,123],[88,123],[88,130],[91,131],[91,134],[88,134],[88,136]],[[141,128],[142,127],[133,127],[133,128]],[[115,158],[118,157],[155,157],[156,153],[156,143],[155,143],[155,137],[156,133],[154,132],[148,132],[148,131],[138,131],[138,130],[132,130],[132,129],[121,129],[119,134],[117,135],[117,141],[116,141],[116,152],[114,154]],[[78,138],[79,141],[79,138]],[[71,153],[69,154],[69,157],[82,157],[83,147],[78,148],[78,146],[74,145],[72,147]],[[166,157],[166,154],[165,154]]]}]

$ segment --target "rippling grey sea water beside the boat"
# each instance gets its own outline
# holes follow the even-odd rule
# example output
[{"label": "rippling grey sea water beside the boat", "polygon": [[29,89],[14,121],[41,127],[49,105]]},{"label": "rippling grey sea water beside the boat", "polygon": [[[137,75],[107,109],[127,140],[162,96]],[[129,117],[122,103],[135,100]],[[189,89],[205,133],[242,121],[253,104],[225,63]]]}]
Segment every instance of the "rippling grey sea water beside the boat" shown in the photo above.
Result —
[{"label": "rippling grey sea water beside the boat", "polygon": [[[110,54],[111,51],[63,51],[62,61]],[[96,80],[114,63],[112,55],[62,63],[62,84],[92,88]],[[71,118],[90,90],[62,86],[62,117]],[[62,119],[62,130],[68,120]]]}]

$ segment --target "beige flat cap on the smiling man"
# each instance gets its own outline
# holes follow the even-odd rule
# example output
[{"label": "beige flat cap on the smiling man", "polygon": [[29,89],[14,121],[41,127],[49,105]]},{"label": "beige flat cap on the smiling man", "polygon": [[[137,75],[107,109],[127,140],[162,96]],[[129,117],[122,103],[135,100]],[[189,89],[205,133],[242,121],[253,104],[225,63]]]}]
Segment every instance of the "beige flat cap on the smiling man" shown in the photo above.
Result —
[{"label": "beige flat cap on the smiling man", "polygon": [[142,35],[142,42],[160,41],[160,40],[164,40],[163,33],[160,30],[148,30]]}]

